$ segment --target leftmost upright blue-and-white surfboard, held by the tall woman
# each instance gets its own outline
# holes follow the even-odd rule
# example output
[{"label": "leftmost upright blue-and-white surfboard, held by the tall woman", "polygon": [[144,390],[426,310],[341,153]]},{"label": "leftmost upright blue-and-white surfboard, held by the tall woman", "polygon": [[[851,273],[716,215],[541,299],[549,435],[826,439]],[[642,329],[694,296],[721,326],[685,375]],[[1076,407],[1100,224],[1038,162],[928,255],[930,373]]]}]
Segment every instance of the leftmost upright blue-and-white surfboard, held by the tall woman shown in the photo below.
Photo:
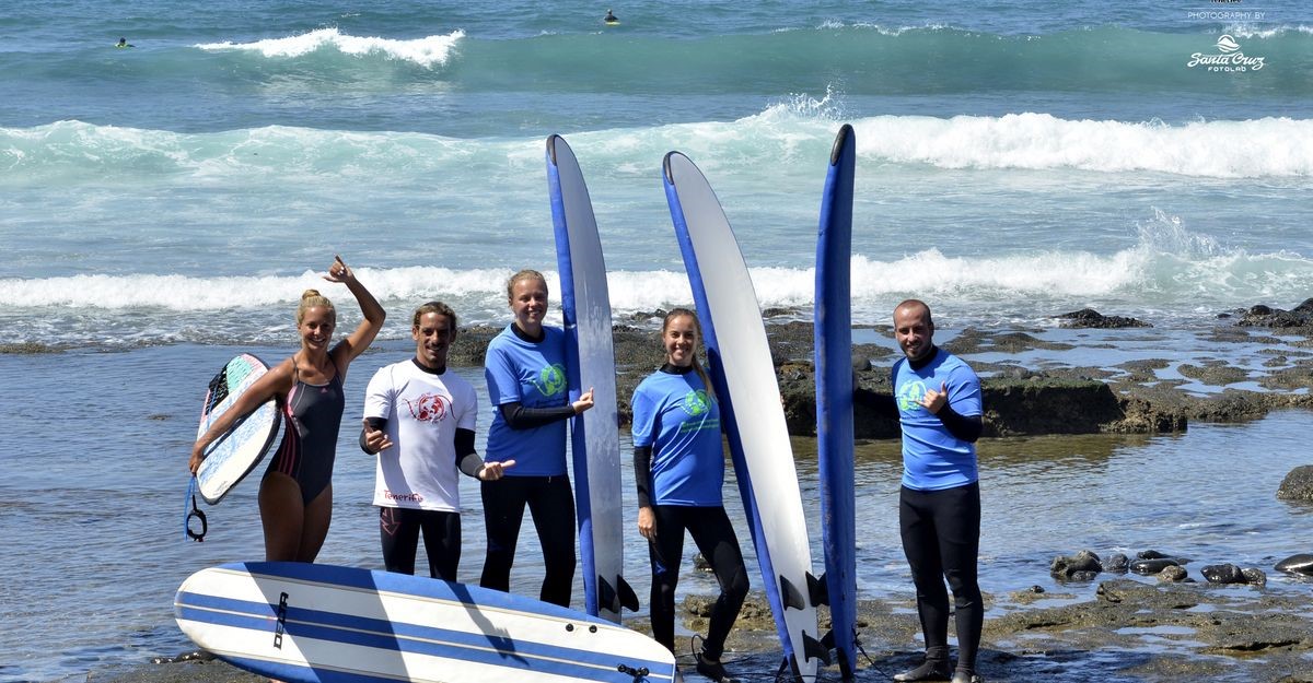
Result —
[{"label": "leftmost upright blue-and-white surfboard, held by the tall woman", "polygon": [[621,608],[637,610],[638,598],[621,577],[625,540],[607,263],[583,173],[559,135],[548,138],[548,190],[561,271],[570,400],[576,400],[586,387],[592,388],[593,397],[592,409],[572,420],[570,435],[584,608],[620,623]]}]

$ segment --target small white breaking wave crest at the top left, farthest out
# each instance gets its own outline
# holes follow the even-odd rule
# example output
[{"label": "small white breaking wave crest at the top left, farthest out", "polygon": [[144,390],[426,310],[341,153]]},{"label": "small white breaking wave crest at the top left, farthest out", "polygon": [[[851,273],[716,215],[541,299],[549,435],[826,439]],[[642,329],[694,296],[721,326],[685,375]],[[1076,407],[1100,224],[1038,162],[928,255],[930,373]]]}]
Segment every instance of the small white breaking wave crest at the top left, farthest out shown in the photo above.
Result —
[{"label": "small white breaking wave crest at the top left, farthest out", "polygon": [[201,43],[201,50],[246,50],[267,58],[297,58],[318,50],[336,50],[344,55],[364,56],[378,54],[387,59],[414,62],[427,68],[442,66],[452,56],[465,31],[454,30],[445,35],[425,35],[410,41],[378,37],[357,37],[340,33],[337,29],[318,29],[286,38],[267,38],[253,43]]}]

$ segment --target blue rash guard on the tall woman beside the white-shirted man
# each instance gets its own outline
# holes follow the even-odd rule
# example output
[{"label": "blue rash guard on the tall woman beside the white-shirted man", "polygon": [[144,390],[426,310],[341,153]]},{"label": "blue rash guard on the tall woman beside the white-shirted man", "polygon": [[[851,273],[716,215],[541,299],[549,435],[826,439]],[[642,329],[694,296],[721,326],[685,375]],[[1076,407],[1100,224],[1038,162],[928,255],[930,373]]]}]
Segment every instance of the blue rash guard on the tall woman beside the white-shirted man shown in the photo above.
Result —
[{"label": "blue rash guard on the tall woman beside the white-shirted man", "polygon": [[508,477],[551,477],[566,473],[567,420],[533,429],[511,429],[502,405],[519,402],[525,408],[569,405],[566,383],[566,343],[561,328],[542,326],[542,341],[520,338],[507,325],[488,342],[483,362],[492,425],[488,427],[486,461],[515,460]]}]

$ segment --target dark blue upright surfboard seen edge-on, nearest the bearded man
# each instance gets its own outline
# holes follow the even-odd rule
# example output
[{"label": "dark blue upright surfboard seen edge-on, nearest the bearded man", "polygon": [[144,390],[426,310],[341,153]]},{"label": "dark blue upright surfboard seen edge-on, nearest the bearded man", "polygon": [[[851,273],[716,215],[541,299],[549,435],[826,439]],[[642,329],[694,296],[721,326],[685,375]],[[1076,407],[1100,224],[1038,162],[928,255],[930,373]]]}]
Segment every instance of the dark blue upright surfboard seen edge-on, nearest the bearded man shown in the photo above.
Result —
[{"label": "dark blue upright surfboard seen edge-on, nearest the bearded man", "polygon": [[852,177],[856,140],[844,125],[821,195],[814,315],[817,458],[826,595],[839,670],[852,680],[857,652],[856,511],[852,461]]}]

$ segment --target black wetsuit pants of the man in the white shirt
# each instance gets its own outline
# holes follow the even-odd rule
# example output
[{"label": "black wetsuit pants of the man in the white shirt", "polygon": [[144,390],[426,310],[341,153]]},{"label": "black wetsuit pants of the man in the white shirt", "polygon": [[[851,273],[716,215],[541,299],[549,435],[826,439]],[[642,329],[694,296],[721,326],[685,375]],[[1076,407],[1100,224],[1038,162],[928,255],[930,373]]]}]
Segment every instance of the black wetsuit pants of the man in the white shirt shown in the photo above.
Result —
[{"label": "black wetsuit pants of the man in the white shirt", "polygon": [[461,564],[461,514],[444,510],[379,507],[378,536],[383,541],[383,565],[389,572],[415,573],[415,552],[424,532],[428,576],[456,581]]}]

